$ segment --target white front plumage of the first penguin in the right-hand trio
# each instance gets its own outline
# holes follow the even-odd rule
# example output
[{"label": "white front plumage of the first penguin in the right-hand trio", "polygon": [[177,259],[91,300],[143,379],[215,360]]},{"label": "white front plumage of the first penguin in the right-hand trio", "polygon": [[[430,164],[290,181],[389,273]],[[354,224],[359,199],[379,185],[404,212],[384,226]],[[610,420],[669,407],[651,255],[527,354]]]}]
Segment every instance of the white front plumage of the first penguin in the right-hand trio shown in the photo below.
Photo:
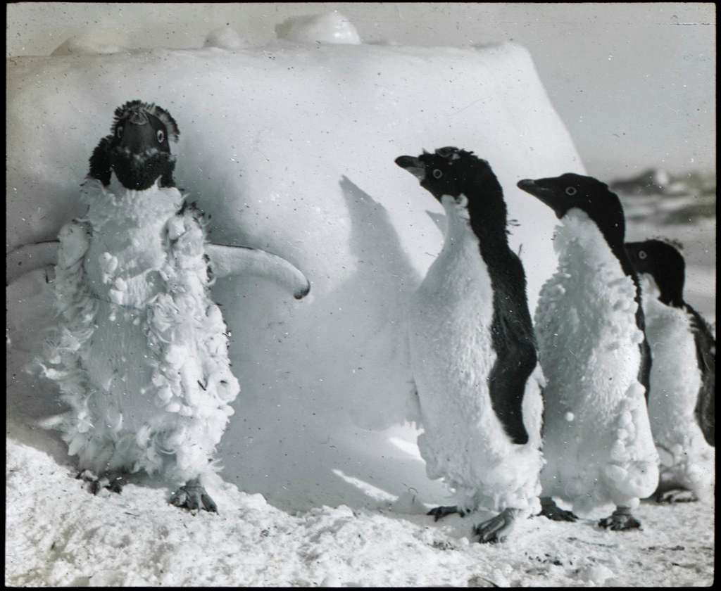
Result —
[{"label": "white front plumage of the first penguin in the right-hand trio", "polygon": [[[448,224],[443,250],[413,295],[409,312],[411,365],[420,399],[418,445],[431,479],[443,476],[462,510],[541,510],[539,474],[543,403],[536,375],[528,378],[523,423],[528,443],[516,445],[491,406],[487,376],[496,355],[493,293],[464,205],[443,197]],[[449,426],[452,426],[449,428]]]}]

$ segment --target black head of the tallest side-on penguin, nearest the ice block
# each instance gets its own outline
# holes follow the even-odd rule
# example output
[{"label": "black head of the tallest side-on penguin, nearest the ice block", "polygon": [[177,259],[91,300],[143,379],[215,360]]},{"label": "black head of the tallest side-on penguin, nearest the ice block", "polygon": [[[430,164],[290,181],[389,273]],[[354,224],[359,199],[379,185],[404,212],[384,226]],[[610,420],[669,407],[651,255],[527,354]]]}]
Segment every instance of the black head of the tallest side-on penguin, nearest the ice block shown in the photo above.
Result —
[{"label": "black head of the tallest side-on penguin, nearest the ice block", "polygon": [[424,150],[420,156],[399,156],[395,162],[417,177],[420,186],[439,202],[443,195],[450,195],[457,204],[469,205],[479,187],[487,186],[484,181],[491,179],[493,188],[500,190],[487,161],[452,146],[438,148],[434,154]]}]

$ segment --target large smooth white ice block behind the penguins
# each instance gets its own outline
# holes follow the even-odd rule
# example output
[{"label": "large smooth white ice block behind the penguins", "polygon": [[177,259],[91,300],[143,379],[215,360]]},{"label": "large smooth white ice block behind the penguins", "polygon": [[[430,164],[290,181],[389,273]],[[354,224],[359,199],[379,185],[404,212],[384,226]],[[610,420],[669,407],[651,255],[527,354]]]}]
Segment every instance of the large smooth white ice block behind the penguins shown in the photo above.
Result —
[{"label": "large smooth white ice block behind the penguins", "polygon": [[[8,81],[8,250],[56,239],[83,213],[77,187],[108,114],[138,98],[182,128],[174,176],[211,215],[211,241],[278,254],[311,281],[300,302],[256,277],[213,287],[242,387],[219,446],[224,478],[289,509],[376,506],[411,489],[448,500],[404,425],[405,306],[441,249],[429,212],[442,209],[394,159],[456,145],[490,161],[535,306],[556,267],[554,216],[516,182],[584,171],[525,50],[284,42],[17,58]],[[52,319],[44,280],[11,287],[8,395],[27,422],[59,410],[21,369]]]}]

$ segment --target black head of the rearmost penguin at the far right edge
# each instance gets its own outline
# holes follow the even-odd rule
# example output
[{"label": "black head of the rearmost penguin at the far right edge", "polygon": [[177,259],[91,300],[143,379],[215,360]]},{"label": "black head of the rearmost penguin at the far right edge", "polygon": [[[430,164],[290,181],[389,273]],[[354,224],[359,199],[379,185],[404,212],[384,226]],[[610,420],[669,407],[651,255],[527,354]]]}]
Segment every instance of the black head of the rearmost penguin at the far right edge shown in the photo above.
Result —
[{"label": "black head of the rearmost penguin at the far right edge", "polygon": [[653,277],[660,291],[660,301],[676,308],[684,305],[686,262],[676,245],[657,239],[627,242],[626,252],[637,273]]}]

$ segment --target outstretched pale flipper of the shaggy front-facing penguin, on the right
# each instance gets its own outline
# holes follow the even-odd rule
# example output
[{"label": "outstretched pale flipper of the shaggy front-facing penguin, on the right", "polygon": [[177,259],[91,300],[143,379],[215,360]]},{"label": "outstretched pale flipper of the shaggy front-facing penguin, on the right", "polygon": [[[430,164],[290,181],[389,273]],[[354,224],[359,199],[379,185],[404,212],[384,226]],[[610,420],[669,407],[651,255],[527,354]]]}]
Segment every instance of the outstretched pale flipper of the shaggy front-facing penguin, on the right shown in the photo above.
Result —
[{"label": "outstretched pale flipper of the shaggy front-facing penguin, on the right", "polygon": [[228,275],[255,275],[267,277],[286,285],[296,300],[308,295],[311,284],[308,278],[291,262],[278,255],[250,246],[226,246],[206,244],[205,253],[210,258],[211,269],[216,277]]}]

